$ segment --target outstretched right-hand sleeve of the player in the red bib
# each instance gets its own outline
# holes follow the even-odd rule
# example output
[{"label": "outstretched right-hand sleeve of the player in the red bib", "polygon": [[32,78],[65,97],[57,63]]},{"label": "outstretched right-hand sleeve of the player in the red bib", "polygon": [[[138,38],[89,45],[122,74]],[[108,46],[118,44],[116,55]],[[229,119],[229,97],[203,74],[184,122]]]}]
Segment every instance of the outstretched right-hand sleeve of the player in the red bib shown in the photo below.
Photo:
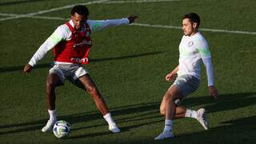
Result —
[{"label": "outstretched right-hand sleeve of the player in the red bib", "polygon": [[87,23],[90,26],[91,31],[98,31],[106,27],[128,25],[129,19],[122,18],[122,19],[110,19],[110,20],[87,20]]}]

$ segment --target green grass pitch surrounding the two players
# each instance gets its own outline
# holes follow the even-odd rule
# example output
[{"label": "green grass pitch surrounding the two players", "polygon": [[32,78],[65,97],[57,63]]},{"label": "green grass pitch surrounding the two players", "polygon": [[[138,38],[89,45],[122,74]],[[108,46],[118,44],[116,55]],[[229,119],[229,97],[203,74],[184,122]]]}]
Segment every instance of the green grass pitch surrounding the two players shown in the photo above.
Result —
[{"label": "green grass pitch surrounding the two players", "polygon": [[[84,1],[0,2],[0,13],[27,14]],[[197,12],[202,28],[255,32],[253,0],[199,0],[89,5],[91,19],[123,18],[137,14],[138,23],[181,26],[183,14]],[[22,7],[22,9],[21,9]],[[39,16],[70,18],[70,9]],[[7,18],[6,16],[0,16]],[[0,143],[255,143],[256,41],[252,34],[202,33],[214,62],[218,101],[208,96],[206,72],[198,91],[182,103],[205,107],[210,130],[189,118],[174,121],[175,138],[154,142],[164,118],[158,109],[169,88],[166,74],[178,65],[181,30],[118,26],[93,34],[90,75],[102,92],[120,134],[110,134],[90,96],[66,82],[58,87],[58,119],[70,122],[69,139],[43,134],[48,118],[45,81],[53,58],[50,51],[26,75],[23,66],[62,20],[17,18],[0,21]]]}]

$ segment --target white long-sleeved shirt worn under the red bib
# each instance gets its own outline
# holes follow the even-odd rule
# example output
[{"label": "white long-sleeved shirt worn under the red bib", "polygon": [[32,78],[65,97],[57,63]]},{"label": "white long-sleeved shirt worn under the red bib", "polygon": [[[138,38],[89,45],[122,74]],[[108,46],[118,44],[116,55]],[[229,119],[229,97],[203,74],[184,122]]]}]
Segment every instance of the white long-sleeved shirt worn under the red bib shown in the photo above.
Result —
[{"label": "white long-sleeved shirt worn under the red bib", "polygon": [[[122,19],[111,19],[111,20],[87,20],[86,23],[90,26],[90,30],[92,32],[102,30],[106,27],[111,26],[120,26],[129,24],[128,18]],[[74,27],[74,23],[70,20],[70,25]],[[34,56],[30,59],[30,66],[35,66],[38,61],[40,61],[46,53],[53,49],[54,46],[61,41],[69,41],[71,39],[72,33],[66,24],[58,26],[54,33],[50,35],[49,38],[46,39],[45,42],[38,48]]]}]

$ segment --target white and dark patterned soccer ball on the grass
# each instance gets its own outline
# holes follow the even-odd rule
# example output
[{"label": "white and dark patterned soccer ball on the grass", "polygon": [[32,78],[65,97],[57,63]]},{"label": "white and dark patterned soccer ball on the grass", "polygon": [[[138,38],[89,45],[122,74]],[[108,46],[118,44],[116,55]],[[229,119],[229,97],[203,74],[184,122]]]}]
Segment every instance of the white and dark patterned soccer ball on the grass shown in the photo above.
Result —
[{"label": "white and dark patterned soccer ball on the grass", "polygon": [[69,122],[61,120],[61,121],[55,122],[53,131],[54,131],[54,135],[57,138],[68,138],[70,135],[70,129],[71,129],[71,126]]}]

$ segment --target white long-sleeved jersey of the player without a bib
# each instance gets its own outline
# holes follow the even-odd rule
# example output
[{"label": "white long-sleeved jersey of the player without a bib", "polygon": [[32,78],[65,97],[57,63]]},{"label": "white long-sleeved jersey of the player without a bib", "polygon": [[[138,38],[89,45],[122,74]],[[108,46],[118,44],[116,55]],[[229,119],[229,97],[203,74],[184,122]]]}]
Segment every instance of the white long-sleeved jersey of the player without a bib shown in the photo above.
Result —
[{"label": "white long-sleeved jersey of the player without a bib", "polygon": [[[201,64],[205,59],[210,59],[210,50],[206,39],[197,32],[192,36],[183,35],[182,41],[179,44],[179,65],[178,75],[190,74],[195,78],[201,79]],[[206,65],[206,62],[204,62]],[[210,61],[211,66],[211,61]],[[206,67],[207,70],[207,67]],[[214,79],[213,70],[207,71],[208,85],[213,85]]]}]

